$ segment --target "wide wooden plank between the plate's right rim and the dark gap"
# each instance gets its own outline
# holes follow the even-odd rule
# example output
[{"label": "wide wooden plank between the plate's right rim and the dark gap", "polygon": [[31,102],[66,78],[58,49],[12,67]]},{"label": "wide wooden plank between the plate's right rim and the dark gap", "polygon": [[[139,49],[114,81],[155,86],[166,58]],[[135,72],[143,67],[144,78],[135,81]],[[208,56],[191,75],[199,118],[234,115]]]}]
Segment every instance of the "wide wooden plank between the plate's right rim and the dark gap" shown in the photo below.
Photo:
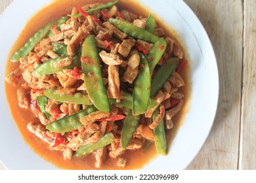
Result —
[{"label": "wide wooden plank between the plate's right rim and the dark gap", "polygon": [[199,17],[211,39],[220,78],[219,105],[213,128],[188,169],[237,169],[242,87],[242,1],[184,1]]}]

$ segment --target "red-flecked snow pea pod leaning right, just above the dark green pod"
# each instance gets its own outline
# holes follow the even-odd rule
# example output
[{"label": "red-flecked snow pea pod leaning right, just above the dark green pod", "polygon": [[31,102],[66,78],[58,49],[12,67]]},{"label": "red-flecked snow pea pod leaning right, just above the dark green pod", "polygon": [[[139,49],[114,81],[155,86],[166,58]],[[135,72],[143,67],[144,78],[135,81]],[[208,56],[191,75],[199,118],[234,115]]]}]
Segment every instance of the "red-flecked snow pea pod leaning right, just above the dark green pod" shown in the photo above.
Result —
[{"label": "red-flecked snow pea pod leaning right, just above the dark green pod", "polygon": [[148,59],[148,65],[150,67],[150,73],[152,74],[154,68],[156,67],[156,64],[158,64],[158,61],[160,61],[161,56],[163,56],[163,53],[165,52],[167,43],[163,37],[158,39],[154,46],[151,48],[150,52],[148,52],[148,55],[146,58]]}]

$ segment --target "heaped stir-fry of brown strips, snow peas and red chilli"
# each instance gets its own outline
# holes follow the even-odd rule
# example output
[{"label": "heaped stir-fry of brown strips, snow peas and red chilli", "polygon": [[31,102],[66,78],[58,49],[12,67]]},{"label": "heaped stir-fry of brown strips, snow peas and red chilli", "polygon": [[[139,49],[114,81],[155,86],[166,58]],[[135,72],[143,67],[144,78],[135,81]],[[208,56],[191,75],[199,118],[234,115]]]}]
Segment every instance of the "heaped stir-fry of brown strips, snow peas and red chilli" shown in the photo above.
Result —
[{"label": "heaped stir-fry of brown strips, snow peas and red chilli", "polygon": [[125,167],[124,154],[150,145],[167,154],[186,60],[152,14],[120,10],[118,1],[77,5],[11,61],[19,65],[5,80],[20,86],[19,107],[35,115],[28,131],[66,161],[91,155],[95,168],[109,158]]}]

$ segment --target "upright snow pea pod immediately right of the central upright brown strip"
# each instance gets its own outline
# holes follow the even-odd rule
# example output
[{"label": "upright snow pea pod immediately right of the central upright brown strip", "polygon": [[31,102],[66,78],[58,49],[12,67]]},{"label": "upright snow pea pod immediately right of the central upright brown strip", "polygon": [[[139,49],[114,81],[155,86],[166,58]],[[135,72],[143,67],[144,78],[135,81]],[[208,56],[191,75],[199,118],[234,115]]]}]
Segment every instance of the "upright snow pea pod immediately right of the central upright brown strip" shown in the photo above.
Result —
[{"label": "upright snow pea pod immediately right of the central upright brown strip", "polygon": [[139,75],[133,89],[133,115],[144,114],[150,101],[151,76],[148,61],[140,54]]}]

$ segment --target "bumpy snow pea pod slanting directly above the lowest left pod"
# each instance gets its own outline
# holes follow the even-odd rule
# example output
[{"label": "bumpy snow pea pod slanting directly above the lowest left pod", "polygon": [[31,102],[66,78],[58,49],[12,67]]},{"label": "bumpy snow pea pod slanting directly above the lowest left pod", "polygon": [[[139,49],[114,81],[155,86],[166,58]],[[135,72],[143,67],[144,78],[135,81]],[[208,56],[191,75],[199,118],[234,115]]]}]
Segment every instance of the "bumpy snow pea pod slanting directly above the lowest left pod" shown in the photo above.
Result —
[{"label": "bumpy snow pea pod slanting directly above the lowest left pod", "polygon": [[83,124],[81,124],[80,119],[83,118],[83,116],[90,114],[91,112],[95,112],[96,110],[97,109],[94,106],[85,108],[85,110],[81,110],[75,114],[66,116],[64,118],[60,118],[52,122],[51,124],[46,126],[46,129],[55,133],[65,133],[68,131],[79,129],[83,127]]}]

